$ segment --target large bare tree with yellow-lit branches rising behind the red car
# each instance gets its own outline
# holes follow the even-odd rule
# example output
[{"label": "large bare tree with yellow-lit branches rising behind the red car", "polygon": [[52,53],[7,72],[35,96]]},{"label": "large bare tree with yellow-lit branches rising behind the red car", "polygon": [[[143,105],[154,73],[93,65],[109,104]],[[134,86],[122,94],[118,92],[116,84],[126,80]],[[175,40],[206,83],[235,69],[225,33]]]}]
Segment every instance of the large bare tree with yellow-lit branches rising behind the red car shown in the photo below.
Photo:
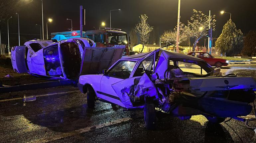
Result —
[{"label": "large bare tree with yellow-lit branches rising behind the red car", "polygon": [[213,16],[207,16],[201,11],[197,11],[193,9],[193,15],[188,20],[188,25],[184,28],[184,33],[189,35],[190,37],[194,37],[196,40],[193,44],[193,51],[195,50],[196,43],[199,39],[201,39],[203,36],[208,35],[208,25],[210,22],[210,27],[212,30],[215,30],[215,23],[216,20],[215,15]]}]

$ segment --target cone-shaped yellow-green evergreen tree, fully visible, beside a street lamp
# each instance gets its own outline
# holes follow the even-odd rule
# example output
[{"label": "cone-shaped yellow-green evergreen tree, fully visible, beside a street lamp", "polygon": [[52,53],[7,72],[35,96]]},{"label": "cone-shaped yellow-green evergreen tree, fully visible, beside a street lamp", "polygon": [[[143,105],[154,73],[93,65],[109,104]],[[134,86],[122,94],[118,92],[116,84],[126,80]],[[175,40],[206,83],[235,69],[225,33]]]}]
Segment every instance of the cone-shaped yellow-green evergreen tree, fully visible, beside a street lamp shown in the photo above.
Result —
[{"label": "cone-shaped yellow-green evergreen tree, fully visible, beside a street lamp", "polygon": [[223,26],[222,33],[215,42],[215,48],[228,56],[241,52],[243,33],[240,29],[236,29],[236,25],[231,19]]}]

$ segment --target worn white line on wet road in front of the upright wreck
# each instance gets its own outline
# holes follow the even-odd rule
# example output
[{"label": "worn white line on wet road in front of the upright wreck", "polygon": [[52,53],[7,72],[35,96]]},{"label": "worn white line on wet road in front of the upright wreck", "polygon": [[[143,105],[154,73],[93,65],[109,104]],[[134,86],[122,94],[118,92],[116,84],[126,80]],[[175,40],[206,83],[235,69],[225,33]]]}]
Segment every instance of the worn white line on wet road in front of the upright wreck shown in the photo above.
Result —
[{"label": "worn white line on wet road in front of the upright wreck", "polygon": [[40,139],[40,140],[32,141],[31,143],[46,143],[46,142],[50,142],[50,141],[55,141],[55,140],[62,139],[62,138],[65,138],[65,137],[70,137],[70,136],[77,135],[77,134],[80,134],[80,133],[88,132],[90,130],[93,130],[93,129],[91,129],[92,127],[94,129],[97,129],[97,128],[102,128],[102,127],[109,126],[109,125],[115,125],[115,124],[118,124],[118,123],[126,122],[126,121],[129,121],[129,120],[132,120],[132,118],[127,117],[127,118],[118,119],[118,120],[108,122],[108,123],[104,123],[104,124],[100,124],[100,125],[89,126],[89,127],[81,128],[81,129],[78,129],[78,130],[62,133],[62,134],[59,134],[59,135],[56,135],[56,136],[53,136],[53,137],[43,138],[43,139]]}]

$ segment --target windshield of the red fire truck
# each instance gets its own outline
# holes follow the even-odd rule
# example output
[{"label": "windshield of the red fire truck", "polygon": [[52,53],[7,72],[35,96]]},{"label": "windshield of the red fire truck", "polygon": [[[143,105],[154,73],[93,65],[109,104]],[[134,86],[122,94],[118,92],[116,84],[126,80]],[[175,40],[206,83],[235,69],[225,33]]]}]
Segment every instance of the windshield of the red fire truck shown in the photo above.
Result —
[{"label": "windshield of the red fire truck", "polygon": [[127,34],[107,32],[108,43],[113,45],[127,45]]}]

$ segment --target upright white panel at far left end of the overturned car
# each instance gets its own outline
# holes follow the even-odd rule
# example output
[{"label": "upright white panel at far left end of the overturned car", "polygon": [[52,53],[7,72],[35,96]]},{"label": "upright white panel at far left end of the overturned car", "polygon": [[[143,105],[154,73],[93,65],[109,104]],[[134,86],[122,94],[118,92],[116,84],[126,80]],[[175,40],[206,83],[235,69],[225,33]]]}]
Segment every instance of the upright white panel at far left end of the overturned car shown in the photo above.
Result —
[{"label": "upright white panel at far left end of the overturned car", "polygon": [[27,73],[26,66],[26,46],[15,46],[11,51],[11,61],[13,70],[17,73]]}]

